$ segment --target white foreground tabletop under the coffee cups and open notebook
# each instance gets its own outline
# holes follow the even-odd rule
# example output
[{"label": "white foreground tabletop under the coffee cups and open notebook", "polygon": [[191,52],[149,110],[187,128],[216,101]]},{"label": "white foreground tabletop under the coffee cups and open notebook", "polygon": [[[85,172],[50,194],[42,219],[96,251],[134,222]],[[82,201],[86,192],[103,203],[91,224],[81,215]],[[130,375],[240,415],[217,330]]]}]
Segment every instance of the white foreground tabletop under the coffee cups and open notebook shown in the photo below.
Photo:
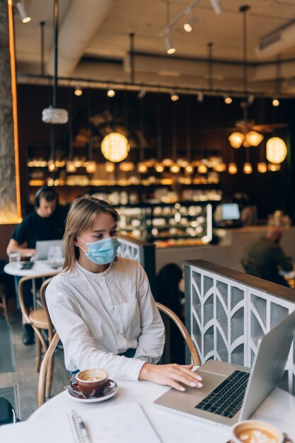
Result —
[{"label": "white foreground tabletop under the coffee cups and open notebook", "polygon": [[[224,427],[173,413],[154,405],[153,401],[168,390],[166,386],[152,384],[149,381],[117,380],[117,384],[118,391],[116,395],[101,403],[84,404],[69,398],[66,391],[59,393],[37,409],[28,419],[28,424],[37,429],[42,423],[42,426],[47,429],[46,432],[50,433],[52,442],[70,443],[69,428],[66,422],[66,413],[69,410],[76,410],[83,418],[88,410],[97,410],[97,417],[99,418],[101,408],[135,402],[141,405],[163,443],[225,443],[229,440],[230,430]],[[294,417],[295,397],[279,388],[275,388],[270,393],[270,396],[265,399],[253,415],[253,418],[271,422],[282,432],[287,432],[289,437],[292,437],[295,441]],[[38,436],[40,437],[40,434]],[[140,436],[138,441],[140,442]]]}]

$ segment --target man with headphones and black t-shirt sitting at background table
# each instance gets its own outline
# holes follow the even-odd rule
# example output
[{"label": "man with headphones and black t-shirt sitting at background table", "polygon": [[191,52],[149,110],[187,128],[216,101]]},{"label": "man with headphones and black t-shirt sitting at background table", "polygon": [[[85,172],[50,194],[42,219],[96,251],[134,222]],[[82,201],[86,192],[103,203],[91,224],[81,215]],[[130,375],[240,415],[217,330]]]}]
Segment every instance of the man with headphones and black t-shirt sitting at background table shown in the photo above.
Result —
[{"label": "man with headphones and black t-shirt sitting at background table", "polygon": [[[66,214],[58,205],[58,195],[54,188],[45,186],[35,194],[35,211],[28,214],[23,222],[14,229],[7,246],[7,254],[19,251],[22,255],[35,254],[36,241],[60,240],[64,236],[64,221]],[[18,282],[21,277],[15,277],[16,294],[18,296]],[[25,308],[33,306],[32,286],[30,282],[23,284],[23,298]],[[18,303],[19,306],[19,303]],[[32,326],[23,323],[23,344],[34,343]]]}]

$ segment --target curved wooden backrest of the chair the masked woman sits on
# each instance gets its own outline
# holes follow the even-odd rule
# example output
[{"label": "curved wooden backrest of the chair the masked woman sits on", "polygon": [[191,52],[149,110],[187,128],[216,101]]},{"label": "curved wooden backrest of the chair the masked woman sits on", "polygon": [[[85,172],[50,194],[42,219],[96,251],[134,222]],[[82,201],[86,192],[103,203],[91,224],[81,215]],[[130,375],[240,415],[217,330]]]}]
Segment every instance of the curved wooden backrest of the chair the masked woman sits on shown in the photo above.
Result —
[{"label": "curved wooden backrest of the chair the masked woman sits on", "polygon": [[[183,335],[183,338],[185,340],[185,343],[187,344],[188,349],[190,350],[190,355],[192,356],[193,364],[195,366],[199,366],[200,362],[199,362],[199,355],[197,353],[197,349],[196,349],[195,344],[193,343],[192,339],[190,338],[190,335],[187,332],[187,328],[185,328],[185,325],[183,324],[183,322],[167,306],[164,306],[161,303],[156,303],[156,305],[158,306],[159,311],[166,313],[166,315],[168,317],[170,317],[172,321],[174,321],[175,325],[180,330],[181,335]],[[51,383],[51,376],[52,376],[52,374],[50,374],[50,364],[52,363],[52,357],[54,355],[54,350],[57,347],[58,342],[59,342],[59,335],[57,333],[55,333],[54,337],[52,338],[50,345],[47,349],[45,357],[42,360],[42,364],[41,364],[41,368],[40,368],[39,384],[38,384],[38,405],[39,406],[41,406],[43,403],[45,403],[46,397],[48,397],[50,395],[50,387],[48,388],[48,384]]]}]

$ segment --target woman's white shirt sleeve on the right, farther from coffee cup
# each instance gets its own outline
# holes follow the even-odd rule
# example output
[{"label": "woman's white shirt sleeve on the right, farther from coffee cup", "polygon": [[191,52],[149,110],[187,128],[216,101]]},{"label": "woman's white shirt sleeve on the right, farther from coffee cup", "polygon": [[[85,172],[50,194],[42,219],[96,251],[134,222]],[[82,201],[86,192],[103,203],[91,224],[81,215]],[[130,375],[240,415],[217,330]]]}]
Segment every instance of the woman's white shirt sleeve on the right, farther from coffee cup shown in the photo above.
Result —
[{"label": "woman's white shirt sleeve on the right, farther from coffee cup", "polygon": [[151,294],[149,280],[142,267],[139,277],[139,311],[141,333],[134,357],[156,364],[163,354],[165,328],[161,315]]}]

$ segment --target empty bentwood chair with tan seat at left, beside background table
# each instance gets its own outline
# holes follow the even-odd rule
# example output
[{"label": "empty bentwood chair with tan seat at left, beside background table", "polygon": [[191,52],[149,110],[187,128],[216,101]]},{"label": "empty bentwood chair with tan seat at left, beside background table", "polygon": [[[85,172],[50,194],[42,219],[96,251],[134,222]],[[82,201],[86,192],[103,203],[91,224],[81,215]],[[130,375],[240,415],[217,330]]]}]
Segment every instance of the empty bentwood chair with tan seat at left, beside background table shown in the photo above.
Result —
[{"label": "empty bentwood chair with tan seat at left, beside background table", "polygon": [[[37,307],[36,309],[32,309],[30,312],[25,308],[25,302],[23,300],[23,283],[28,282],[29,280],[34,280],[36,278],[46,278],[49,277],[45,282],[42,283],[40,287],[40,301],[42,306]],[[29,323],[33,330],[35,331],[36,336],[36,347],[37,347],[37,359],[35,364],[35,371],[39,372],[40,364],[41,364],[41,347],[44,353],[47,351],[47,343],[41,333],[41,329],[48,330],[48,342],[50,343],[52,340],[52,322],[50,320],[50,315],[47,311],[46,301],[45,301],[45,289],[48,283],[52,280],[52,272],[50,275],[32,275],[27,277],[22,277],[18,282],[18,299],[21,305],[21,313],[23,314],[23,319],[26,323]]]}]

